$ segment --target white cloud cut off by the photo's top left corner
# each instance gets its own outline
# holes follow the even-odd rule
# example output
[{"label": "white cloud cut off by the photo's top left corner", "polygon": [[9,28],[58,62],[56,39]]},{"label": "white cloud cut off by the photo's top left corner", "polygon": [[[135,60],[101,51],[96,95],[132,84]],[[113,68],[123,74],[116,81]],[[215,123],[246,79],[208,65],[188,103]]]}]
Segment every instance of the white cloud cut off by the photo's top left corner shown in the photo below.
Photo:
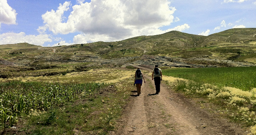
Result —
[{"label": "white cloud cut off by the photo's top left corner", "polygon": [[7,3],[7,0],[0,0],[0,24],[16,24],[16,11]]}]

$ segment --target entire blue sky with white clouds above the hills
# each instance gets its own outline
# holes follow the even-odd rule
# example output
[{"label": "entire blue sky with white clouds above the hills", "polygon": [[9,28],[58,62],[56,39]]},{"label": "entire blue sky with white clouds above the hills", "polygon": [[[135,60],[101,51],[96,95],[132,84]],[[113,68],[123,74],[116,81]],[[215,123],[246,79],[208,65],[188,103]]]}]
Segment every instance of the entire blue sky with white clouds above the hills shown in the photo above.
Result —
[{"label": "entire blue sky with white clouds above the hills", "polygon": [[0,0],[0,45],[114,42],[256,27],[256,0]]}]

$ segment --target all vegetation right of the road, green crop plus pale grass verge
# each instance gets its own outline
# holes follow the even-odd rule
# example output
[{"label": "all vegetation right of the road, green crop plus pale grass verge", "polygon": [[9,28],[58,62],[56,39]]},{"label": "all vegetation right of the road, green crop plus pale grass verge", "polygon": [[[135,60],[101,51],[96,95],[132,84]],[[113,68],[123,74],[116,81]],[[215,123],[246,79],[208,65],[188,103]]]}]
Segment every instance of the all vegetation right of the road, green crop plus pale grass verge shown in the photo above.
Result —
[{"label": "all vegetation right of the road, green crop plus pale grass verge", "polygon": [[162,71],[165,75],[163,79],[175,91],[199,98],[201,104],[209,102],[219,106],[213,110],[215,113],[233,122],[253,126],[252,132],[256,132],[256,67],[176,68]]}]

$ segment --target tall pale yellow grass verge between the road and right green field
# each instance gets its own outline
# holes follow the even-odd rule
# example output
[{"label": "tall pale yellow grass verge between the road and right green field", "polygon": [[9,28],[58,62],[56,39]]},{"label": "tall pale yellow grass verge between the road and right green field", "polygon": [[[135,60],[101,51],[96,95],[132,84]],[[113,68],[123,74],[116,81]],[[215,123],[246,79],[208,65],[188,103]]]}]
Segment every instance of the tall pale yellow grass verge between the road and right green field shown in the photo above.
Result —
[{"label": "tall pale yellow grass verge between the road and right green field", "polygon": [[164,80],[176,91],[183,91],[189,96],[207,98],[212,103],[229,108],[226,115],[232,120],[251,126],[251,133],[256,135],[256,88],[249,91],[232,87],[219,87],[213,84],[203,84],[191,80],[165,77]]}]

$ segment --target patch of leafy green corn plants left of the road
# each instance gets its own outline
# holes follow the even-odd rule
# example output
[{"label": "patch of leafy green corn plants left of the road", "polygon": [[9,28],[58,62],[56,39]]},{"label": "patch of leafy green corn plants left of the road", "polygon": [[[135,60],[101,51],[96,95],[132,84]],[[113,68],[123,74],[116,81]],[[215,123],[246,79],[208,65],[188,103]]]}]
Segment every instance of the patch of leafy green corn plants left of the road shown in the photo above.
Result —
[{"label": "patch of leafy green corn plants left of the road", "polygon": [[10,81],[0,83],[0,128],[17,123],[21,113],[29,114],[31,110],[49,110],[62,106],[80,96],[90,95],[104,83],[42,83]]}]

